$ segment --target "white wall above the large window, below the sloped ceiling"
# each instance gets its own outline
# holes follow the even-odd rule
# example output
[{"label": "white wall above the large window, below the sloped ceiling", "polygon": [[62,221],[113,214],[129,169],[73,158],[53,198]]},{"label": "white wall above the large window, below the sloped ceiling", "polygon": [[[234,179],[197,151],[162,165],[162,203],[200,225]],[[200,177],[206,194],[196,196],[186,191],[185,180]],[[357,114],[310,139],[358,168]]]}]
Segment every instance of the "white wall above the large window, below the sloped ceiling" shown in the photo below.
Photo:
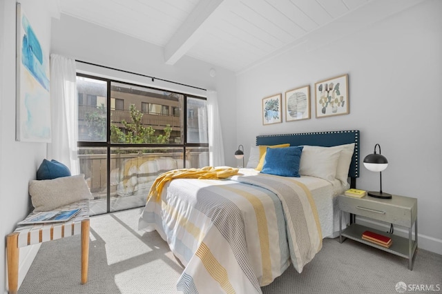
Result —
[{"label": "white wall above the large window, below the sloped ceiling", "polygon": [[[51,52],[102,66],[136,72],[207,90],[216,90],[220,112],[231,113],[230,107],[236,101],[236,76],[233,72],[190,57],[182,57],[173,66],[166,65],[163,50],[159,46],[65,14],[61,14],[59,20],[52,21]],[[170,87],[175,90],[200,94],[199,90],[192,88],[183,88],[158,80],[152,83],[151,79],[145,77],[135,75],[128,77],[130,75],[93,66],[84,66],[81,63],[78,63],[77,68],[92,73],[102,72],[103,75],[115,79],[131,79],[131,81],[137,81],[137,83],[147,86]],[[214,78],[209,75],[211,68],[216,71]],[[221,119],[224,152],[227,155],[232,155],[226,156],[227,165],[235,164],[233,153],[236,150],[236,133],[231,132],[236,125],[235,118],[236,116],[233,115]]]}]

